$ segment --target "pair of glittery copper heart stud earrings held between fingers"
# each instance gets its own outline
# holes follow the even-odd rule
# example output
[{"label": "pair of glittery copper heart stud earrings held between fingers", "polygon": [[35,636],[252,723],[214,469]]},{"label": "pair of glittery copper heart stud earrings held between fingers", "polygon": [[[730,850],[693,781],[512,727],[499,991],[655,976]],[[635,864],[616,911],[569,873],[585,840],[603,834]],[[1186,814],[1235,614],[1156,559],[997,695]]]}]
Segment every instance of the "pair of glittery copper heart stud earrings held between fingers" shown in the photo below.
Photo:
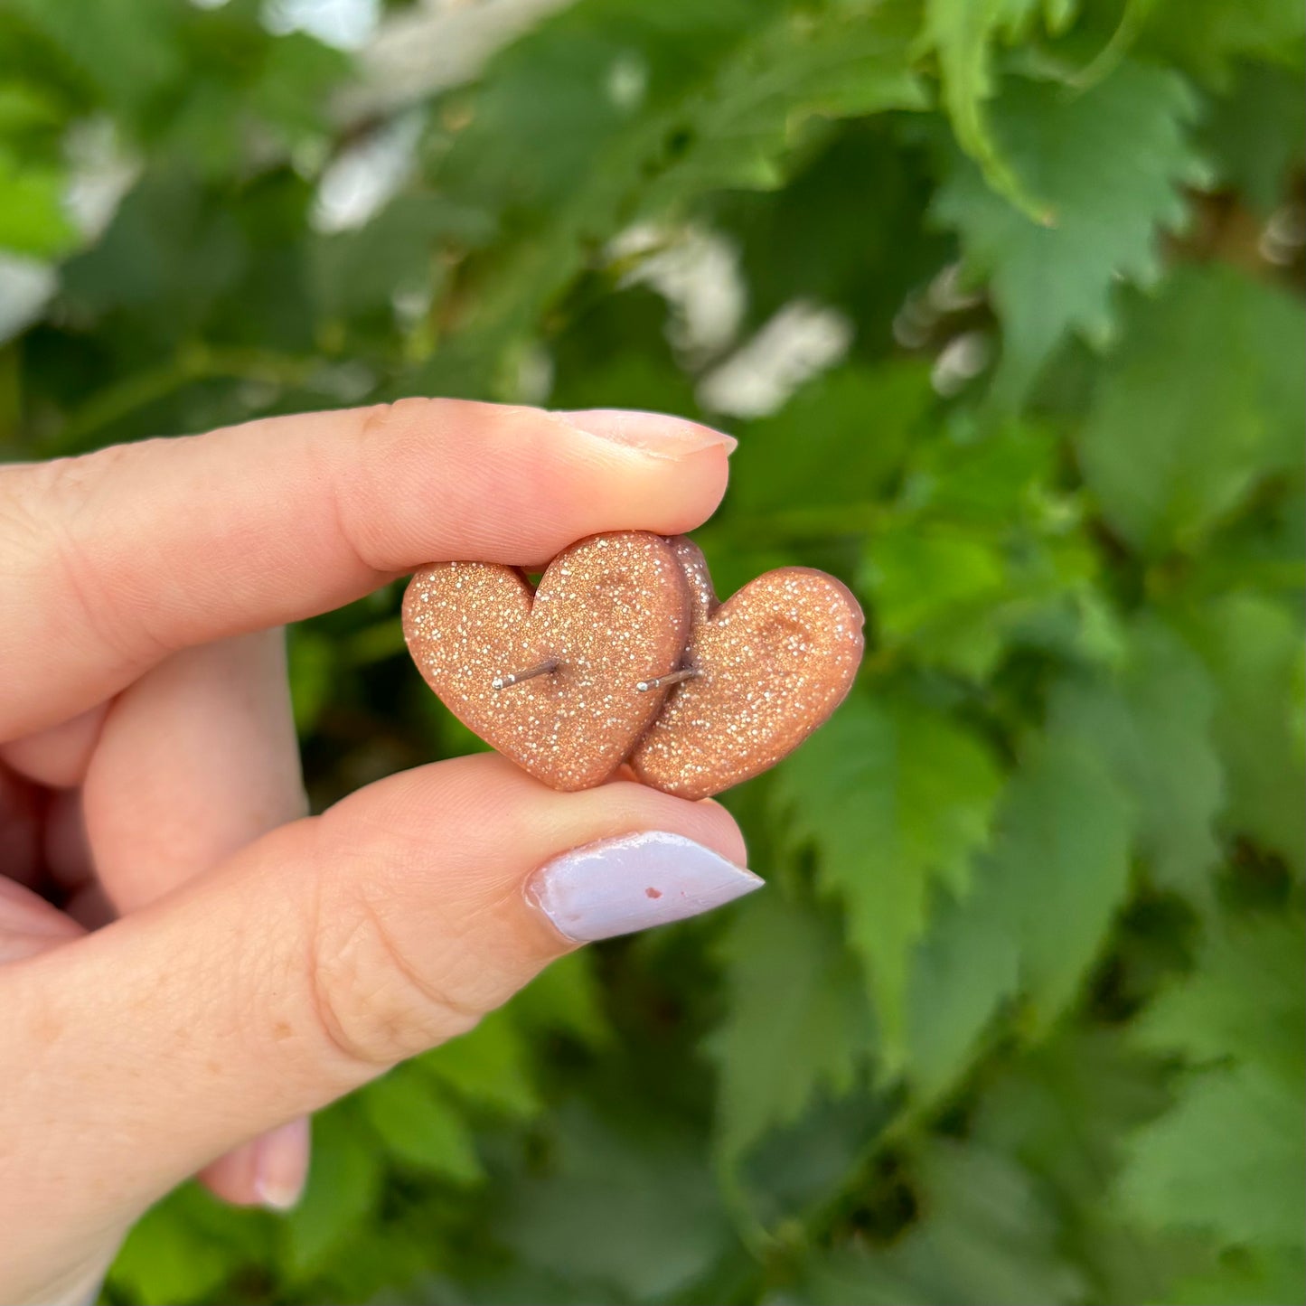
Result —
[{"label": "pair of glittery copper heart stud earrings held between fingers", "polygon": [[533,588],[495,563],[432,563],[404,596],[427,684],[554,789],[628,763],[707,798],[774,765],[838,707],[862,611],[835,577],[781,567],[718,603],[686,537],[623,530],[563,550]]}]

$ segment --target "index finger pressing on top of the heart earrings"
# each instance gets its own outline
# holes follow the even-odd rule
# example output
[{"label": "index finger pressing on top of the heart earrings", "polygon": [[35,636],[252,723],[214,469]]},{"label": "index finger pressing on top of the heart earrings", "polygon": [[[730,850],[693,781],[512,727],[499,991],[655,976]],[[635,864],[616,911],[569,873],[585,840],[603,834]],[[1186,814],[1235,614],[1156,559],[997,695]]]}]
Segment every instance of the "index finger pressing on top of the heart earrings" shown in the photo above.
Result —
[{"label": "index finger pressing on top of the heart earrings", "polygon": [[677,534],[729,436],[657,414],[460,400],[269,418],[0,474],[0,739],[168,653],[338,607],[432,560]]}]

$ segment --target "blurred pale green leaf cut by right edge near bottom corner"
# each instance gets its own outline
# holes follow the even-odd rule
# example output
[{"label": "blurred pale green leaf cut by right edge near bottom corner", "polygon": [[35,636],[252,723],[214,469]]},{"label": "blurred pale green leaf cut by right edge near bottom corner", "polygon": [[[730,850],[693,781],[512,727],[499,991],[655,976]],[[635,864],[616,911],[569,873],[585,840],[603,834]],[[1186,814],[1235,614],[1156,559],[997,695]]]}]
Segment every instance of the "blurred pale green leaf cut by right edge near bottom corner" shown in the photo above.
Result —
[{"label": "blurred pale green leaf cut by right edge near bottom corner", "polygon": [[1136,1135],[1119,1199],[1156,1228],[1296,1247],[1306,1226],[1303,1165],[1299,1084],[1246,1066],[1208,1071]]}]

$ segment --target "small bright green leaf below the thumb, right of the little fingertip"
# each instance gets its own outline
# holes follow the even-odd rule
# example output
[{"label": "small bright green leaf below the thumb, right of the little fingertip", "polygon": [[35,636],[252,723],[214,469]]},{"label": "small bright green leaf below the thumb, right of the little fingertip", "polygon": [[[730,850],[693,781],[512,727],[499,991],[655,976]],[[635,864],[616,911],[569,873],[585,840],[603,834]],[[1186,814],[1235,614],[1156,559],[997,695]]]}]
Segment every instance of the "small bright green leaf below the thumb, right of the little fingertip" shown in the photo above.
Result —
[{"label": "small bright green leaf below the thumb, right of the little fingertip", "polygon": [[401,1066],[368,1084],[359,1106],[396,1160],[453,1183],[485,1178],[462,1113],[419,1072]]}]

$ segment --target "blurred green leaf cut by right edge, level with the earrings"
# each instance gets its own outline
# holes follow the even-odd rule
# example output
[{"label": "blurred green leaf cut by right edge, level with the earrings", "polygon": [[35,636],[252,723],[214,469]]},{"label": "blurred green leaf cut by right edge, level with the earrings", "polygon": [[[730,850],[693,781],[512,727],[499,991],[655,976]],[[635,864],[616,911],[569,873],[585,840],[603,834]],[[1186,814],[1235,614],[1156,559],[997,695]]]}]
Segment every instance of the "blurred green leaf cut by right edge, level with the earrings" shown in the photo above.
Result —
[{"label": "blurred green leaf cut by right edge, level with the earrings", "polygon": [[1225,824],[1303,875],[1301,623],[1256,594],[1225,596],[1179,619],[1218,691],[1215,737],[1229,788]]}]

